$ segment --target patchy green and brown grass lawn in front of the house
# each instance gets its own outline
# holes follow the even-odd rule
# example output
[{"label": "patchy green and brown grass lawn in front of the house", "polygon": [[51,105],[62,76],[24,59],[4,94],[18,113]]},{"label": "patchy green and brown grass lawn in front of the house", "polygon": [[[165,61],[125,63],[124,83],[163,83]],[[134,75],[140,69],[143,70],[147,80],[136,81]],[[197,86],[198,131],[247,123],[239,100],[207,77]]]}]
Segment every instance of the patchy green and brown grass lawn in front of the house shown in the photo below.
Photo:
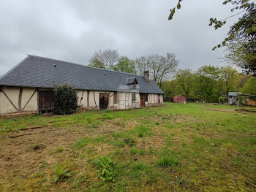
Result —
[{"label": "patchy green and brown grass lawn in front of the house", "polygon": [[235,109],[1,119],[0,191],[256,191],[256,113]]}]

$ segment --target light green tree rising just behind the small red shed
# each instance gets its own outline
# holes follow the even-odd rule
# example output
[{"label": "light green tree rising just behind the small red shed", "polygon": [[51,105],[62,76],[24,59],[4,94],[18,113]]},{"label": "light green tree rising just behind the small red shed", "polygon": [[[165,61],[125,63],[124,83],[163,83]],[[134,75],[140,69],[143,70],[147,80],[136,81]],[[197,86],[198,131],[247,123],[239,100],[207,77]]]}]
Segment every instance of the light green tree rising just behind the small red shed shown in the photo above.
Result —
[{"label": "light green tree rising just behind the small red shed", "polygon": [[187,97],[192,89],[192,82],[195,80],[194,72],[191,69],[179,69],[176,72],[176,80]]}]

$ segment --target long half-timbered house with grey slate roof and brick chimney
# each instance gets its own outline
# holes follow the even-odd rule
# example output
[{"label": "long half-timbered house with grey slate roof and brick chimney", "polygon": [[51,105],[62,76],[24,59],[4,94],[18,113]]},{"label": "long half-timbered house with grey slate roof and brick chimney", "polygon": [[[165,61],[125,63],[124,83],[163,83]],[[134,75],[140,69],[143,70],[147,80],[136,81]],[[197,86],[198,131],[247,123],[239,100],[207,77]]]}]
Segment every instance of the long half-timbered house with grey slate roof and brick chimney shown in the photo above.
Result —
[{"label": "long half-timbered house with grey slate roof and brick chimney", "polygon": [[50,112],[54,85],[70,84],[83,110],[126,110],[163,103],[163,91],[144,76],[28,55],[0,78],[0,114]]}]

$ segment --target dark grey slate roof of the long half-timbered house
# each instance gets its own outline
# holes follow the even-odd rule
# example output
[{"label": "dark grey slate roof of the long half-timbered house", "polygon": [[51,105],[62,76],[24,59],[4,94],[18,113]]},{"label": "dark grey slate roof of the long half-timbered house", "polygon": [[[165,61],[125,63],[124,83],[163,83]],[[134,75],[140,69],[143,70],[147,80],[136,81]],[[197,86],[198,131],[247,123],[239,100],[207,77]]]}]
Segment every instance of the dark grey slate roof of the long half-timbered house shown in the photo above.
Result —
[{"label": "dark grey slate roof of the long half-timbered house", "polygon": [[126,85],[127,78],[136,78],[140,93],[164,94],[156,82],[147,82],[143,76],[107,69],[73,64],[52,58],[28,55],[17,66],[0,78],[0,85],[53,88],[68,83],[76,89],[93,91],[117,91]]}]

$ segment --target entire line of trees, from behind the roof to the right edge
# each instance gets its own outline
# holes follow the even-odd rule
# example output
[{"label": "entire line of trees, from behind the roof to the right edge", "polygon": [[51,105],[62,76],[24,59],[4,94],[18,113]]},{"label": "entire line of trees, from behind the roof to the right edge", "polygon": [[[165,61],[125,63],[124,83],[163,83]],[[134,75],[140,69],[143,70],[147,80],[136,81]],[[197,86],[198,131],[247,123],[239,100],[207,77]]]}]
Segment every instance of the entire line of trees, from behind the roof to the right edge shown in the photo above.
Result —
[{"label": "entire line of trees, from behind the roof to the right edge", "polygon": [[89,62],[89,66],[117,72],[143,75],[148,70],[151,80],[165,90],[166,100],[183,95],[188,101],[217,102],[230,91],[256,95],[256,77],[239,73],[232,66],[201,66],[195,71],[178,69],[174,53],[143,55],[132,60],[118,55],[117,50],[98,50]]}]

